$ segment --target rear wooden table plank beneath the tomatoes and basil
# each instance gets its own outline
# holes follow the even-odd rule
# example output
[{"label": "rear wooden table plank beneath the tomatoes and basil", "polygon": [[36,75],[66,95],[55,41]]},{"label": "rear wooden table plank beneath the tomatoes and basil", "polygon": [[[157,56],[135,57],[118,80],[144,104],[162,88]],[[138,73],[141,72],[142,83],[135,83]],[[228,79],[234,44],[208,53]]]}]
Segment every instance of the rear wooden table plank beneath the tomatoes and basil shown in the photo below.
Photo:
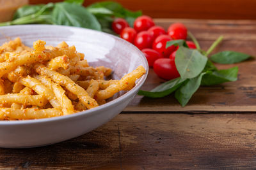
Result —
[{"label": "rear wooden table plank beneath the tomatoes and basil", "polygon": [[[256,55],[256,21],[252,20],[177,20],[156,19],[158,25],[167,28],[172,22],[186,24],[195,34],[200,45],[207,50],[211,43],[223,35],[223,43],[217,51],[234,50]],[[239,67],[239,80],[211,87],[200,87],[185,108],[181,108],[173,95],[161,99],[136,96],[124,111],[256,111],[256,60],[240,64],[221,65],[220,69]],[[150,69],[143,90],[154,89],[164,80]]]}]

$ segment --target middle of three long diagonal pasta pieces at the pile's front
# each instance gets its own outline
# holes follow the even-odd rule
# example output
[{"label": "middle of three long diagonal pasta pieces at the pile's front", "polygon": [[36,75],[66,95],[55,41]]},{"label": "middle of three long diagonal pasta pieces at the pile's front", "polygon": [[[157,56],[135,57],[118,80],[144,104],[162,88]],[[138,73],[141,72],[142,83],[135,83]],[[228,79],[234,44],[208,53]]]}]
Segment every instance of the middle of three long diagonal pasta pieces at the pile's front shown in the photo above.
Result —
[{"label": "middle of three long diagonal pasta pieces at the pile's front", "polygon": [[60,87],[60,85],[52,82],[51,79],[45,76],[36,76],[35,78],[40,80],[46,87],[48,87],[54,92],[56,98],[61,104],[64,115],[70,115],[74,113],[74,107],[70,99],[68,99],[68,97],[65,95],[65,90],[63,90],[62,87]]}]

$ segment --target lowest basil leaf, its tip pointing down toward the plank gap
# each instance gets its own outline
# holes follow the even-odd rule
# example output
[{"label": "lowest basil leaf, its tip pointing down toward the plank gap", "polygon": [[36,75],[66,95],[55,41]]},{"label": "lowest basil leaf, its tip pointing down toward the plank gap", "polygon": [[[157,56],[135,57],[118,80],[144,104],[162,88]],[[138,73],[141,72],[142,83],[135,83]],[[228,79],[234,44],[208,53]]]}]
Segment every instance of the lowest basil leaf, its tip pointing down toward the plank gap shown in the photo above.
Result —
[{"label": "lowest basil leaf, its tip pointing down toward the plank gap", "polygon": [[202,77],[205,73],[201,73],[195,78],[189,79],[184,85],[175,91],[175,98],[179,101],[182,107],[186,106],[189,99],[193,96],[196,90],[200,87]]}]

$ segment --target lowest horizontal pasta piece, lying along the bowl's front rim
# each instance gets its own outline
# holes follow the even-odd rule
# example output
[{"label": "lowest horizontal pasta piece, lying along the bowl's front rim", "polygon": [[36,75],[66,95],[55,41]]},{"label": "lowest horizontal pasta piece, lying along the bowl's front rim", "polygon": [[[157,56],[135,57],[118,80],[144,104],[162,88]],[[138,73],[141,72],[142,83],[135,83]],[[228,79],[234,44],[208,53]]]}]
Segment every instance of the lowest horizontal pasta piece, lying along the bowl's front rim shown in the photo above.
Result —
[{"label": "lowest horizontal pasta piece, lying along the bowl's front rim", "polygon": [[24,110],[15,108],[0,108],[0,120],[28,120],[36,118],[60,117],[63,113],[56,108],[38,110],[36,108],[28,108]]}]

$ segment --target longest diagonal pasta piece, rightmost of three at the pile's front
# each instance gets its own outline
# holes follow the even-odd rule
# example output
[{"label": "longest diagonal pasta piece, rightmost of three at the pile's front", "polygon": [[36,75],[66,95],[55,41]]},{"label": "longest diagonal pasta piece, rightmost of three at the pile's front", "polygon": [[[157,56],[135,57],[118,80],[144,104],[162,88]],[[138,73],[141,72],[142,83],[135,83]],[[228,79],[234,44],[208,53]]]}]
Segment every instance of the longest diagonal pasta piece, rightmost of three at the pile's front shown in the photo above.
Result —
[{"label": "longest diagonal pasta piece, rightmost of three at the pile's front", "polygon": [[60,84],[61,86],[66,87],[67,90],[72,92],[73,94],[76,94],[76,96],[81,100],[86,108],[95,108],[96,106],[99,106],[98,103],[88,95],[86,90],[84,90],[82,87],[77,85],[74,81],[72,81],[67,76],[63,76],[62,74],[52,71],[51,69],[45,67],[43,64],[36,64],[35,65],[36,72],[38,74],[42,74],[44,76],[48,76],[52,79],[52,81]]}]

